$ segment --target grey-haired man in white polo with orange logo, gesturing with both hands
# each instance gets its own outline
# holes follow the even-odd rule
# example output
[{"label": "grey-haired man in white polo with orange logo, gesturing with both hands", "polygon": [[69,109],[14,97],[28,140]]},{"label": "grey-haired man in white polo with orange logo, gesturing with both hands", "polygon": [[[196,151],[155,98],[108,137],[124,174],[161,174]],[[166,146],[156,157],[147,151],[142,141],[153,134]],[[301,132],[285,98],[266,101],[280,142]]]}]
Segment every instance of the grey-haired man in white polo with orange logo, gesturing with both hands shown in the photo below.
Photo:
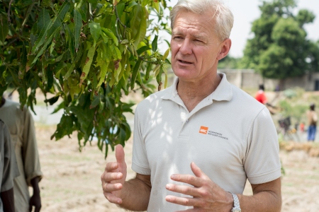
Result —
[{"label": "grey-haired man in white polo with orange logo, gesturing with both hands", "polygon": [[[180,0],[171,12],[174,85],[135,110],[132,169],[122,146],[103,194],[131,211],[280,211],[281,165],[269,110],[217,73],[233,14],[220,1]],[[242,195],[246,180],[252,196]]]}]

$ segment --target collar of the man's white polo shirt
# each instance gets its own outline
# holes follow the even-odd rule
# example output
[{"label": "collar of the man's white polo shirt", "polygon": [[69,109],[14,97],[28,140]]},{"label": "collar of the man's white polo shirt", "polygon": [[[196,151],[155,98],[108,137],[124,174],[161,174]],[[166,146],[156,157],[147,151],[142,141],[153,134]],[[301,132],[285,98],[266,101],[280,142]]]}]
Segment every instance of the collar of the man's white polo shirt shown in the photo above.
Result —
[{"label": "collar of the man's white polo shirt", "polygon": [[[227,81],[225,73],[218,73],[222,80],[217,86],[216,90],[208,96],[211,100],[216,101],[230,101],[233,98],[233,89],[232,85]],[[175,78],[172,86],[167,88],[167,92],[162,96],[163,100],[174,100],[178,97],[177,93],[177,83],[179,82],[179,78]]]}]

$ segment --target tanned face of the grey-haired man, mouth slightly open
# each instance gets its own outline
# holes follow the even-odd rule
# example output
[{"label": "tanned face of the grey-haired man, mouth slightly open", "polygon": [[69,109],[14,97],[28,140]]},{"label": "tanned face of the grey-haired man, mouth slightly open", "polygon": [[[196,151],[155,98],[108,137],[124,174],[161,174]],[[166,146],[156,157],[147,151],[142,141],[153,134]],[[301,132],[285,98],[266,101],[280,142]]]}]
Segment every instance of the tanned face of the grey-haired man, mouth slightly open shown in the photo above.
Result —
[{"label": "tanned face of the grey-haired man, mouth slightly open", "polygon": [[208,15],[180,11],[175,18],[171,40],[172,69],[181,80],[196,82],[216,76],[218,59],[227,54],[220,54],[225,50],[225,41],[214,33],[215,23]]}]

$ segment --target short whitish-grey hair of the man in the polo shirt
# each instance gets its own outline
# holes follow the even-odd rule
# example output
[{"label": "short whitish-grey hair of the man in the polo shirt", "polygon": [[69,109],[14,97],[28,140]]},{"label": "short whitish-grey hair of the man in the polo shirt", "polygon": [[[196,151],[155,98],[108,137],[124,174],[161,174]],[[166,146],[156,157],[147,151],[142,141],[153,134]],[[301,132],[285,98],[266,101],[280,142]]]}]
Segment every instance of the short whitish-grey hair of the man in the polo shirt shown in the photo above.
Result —
[{"label": "short whitish-grey hair of the man in the polo shirt", "polygon": [[230,8],[219,0],[179,0],[172,8],[170,13],[172,29],[174,28],[174,21],[179,11],[186,10],[191,13],[201,14],[208,11],[213,12],[216,20],[215,33],[220,40],[225,40],[230,36],[230,30],[233,28],[234,17]]}]

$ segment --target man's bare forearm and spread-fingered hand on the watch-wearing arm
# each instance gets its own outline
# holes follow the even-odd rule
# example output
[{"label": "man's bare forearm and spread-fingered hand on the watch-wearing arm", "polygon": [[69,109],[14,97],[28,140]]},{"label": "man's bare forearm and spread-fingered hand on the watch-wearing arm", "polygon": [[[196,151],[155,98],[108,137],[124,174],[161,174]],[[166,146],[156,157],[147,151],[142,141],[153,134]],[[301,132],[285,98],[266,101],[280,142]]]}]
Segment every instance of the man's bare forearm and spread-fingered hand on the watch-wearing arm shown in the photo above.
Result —
[{"label": "man's bare forearm and spread-fingered hand on the watch-wearing arm", "polygon": [[[194,175],[172,175],[171,179],[187,185],[167,184],[172,192],[193,196],[193,198],[168,195],[166,200],[183,206],[194,206],[191,211],[230,212],[233,208],[233,196],[213,182],[195,163],[191,163]],[[237,194],[242,211],[276,212],[281,210],[281,179],[263,184],[252,184],[253,196]]]}]

